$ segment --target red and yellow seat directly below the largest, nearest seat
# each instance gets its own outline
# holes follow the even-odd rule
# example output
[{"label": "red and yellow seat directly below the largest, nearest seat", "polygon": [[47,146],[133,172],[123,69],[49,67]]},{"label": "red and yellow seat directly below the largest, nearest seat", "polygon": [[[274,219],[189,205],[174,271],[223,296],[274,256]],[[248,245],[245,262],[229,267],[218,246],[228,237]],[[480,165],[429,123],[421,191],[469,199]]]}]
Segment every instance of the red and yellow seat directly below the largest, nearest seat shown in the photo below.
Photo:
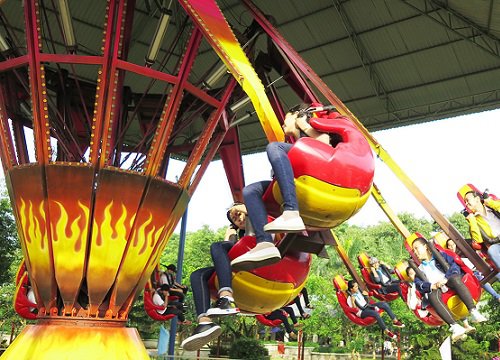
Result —
[{"label": "red and yellow seat directly below the largest, nearest seat", "polygon": [[[254,247],[255,237],[244,236],[229,251],[229,259]],[[275,264],[251,271],[233,271],[233,297],[238,308],[245,313],[265,314],[293,301],[306,283],[311,259],[311,254],[287,251]],[[209,288],[211,297],[216,299],[219,283],[215,271],[209,279]]]}]

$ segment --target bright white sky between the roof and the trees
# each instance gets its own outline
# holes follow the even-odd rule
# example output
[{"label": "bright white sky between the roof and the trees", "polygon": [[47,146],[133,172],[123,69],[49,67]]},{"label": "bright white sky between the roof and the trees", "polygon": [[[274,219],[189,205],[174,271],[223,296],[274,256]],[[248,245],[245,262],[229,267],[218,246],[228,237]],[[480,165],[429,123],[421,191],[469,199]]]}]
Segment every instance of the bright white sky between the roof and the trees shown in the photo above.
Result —
[{"label": "bright white sky between the roof and the trees", "polygon": [[[480,190],[500,193],[498,161],[500,110],[486,111],[424,124],[374,132],[373,135],[399,167],[444,215],[462,209],[458,189],[472,183]],[[169,176],[179,176],[173,167]],[[243,157],[245,183],[270,178],[265,153]],[[178,173],[176,173],[178,171]],[[430,219],[425,209],[380,159],[375,163],[374,182],[396,212],[409,212]],[[226,210],[232,203],[221,161],[212,162],[188,208],[187,231],[203,225],[216,230],[227,226]],[[348,222],[360,226],[388,221],[370,197]],[[176,232],[179,232],[180,225]]]}]

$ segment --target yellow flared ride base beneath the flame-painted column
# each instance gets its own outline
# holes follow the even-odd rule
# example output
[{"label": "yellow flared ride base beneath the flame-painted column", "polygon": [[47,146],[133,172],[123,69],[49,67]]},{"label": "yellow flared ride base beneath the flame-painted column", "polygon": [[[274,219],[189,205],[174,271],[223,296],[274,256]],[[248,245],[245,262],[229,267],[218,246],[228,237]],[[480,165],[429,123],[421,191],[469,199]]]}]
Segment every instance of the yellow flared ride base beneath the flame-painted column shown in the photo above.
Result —
[{"label": "yellow flared ride base beneath the flame-painted column", "polygon": [[134,359],[150,357],[135,328],[123,321],[39,321],[26,326],[2,360]]}]

